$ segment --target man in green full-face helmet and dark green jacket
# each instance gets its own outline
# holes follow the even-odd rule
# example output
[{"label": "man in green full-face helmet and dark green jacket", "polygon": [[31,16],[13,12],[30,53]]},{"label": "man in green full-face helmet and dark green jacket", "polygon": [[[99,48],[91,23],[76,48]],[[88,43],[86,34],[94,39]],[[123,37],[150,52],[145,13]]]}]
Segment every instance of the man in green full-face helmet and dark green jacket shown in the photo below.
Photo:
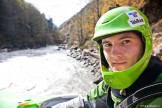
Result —
[{"label": "man in green full-face helmet and dark green jacket", "polygon": [[99,47],[103,81],[87,101],[78,97],[52,108],[162,107],[162,97],[152,95],[158,86],[149,86],[162,82],[162,62],[151,55],[152,32],[140,10],[123,6],[108,11],[97,22],[93,40]]}]

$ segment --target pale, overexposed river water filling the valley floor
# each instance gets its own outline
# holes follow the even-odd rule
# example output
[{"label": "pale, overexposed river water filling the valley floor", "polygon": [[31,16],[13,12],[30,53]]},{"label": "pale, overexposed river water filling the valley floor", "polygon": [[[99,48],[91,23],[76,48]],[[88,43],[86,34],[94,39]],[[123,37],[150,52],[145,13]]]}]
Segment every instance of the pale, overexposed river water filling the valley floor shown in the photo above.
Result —
[{"label": "pale, overexposed river water filling the valley floor", "polygon": [[85,95],[95,77],[57,46],[0,53],[0,90]]}]

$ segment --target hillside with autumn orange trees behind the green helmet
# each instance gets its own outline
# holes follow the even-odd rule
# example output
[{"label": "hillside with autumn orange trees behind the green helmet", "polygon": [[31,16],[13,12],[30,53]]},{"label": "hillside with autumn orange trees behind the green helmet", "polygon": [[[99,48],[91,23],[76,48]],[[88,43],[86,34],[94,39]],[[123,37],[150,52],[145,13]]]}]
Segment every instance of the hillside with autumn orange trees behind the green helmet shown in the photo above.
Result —
[{"label": "hillside with autumn orange trees behind the green helmet", "polygon": [[79,13],[63,23],[59,31],[62,32],[69,44],[77,42],[82,46],[92,46],[90,41],[94,27],[99,17],[110,7],[133,6],[139,8],[148,17],[153,31],[153,47],[155,53],[160,53],[162,45],[162,1],[161,0],[93,0]]}]

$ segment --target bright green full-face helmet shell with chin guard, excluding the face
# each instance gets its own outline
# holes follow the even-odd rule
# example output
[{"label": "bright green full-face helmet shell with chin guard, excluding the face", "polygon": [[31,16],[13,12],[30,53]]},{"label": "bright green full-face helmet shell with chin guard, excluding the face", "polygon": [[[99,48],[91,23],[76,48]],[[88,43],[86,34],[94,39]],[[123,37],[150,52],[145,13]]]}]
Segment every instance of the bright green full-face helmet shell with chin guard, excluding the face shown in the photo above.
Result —
[{"label": "bright green full-face helmet shell with chin guard, excluding the face", "polygon": [[[142,58],[130,68],[121,72],[109,71],[100,42],[112,34],[138,31],[144,38],[145,51]],[[137,8],[123,6],[105,13],[97,22],[94,37],[100,52],[100,66],[104,81],[112,88],[125,89],[131,86],[146,69],[152,54],[152,32],[146,16]]]}]

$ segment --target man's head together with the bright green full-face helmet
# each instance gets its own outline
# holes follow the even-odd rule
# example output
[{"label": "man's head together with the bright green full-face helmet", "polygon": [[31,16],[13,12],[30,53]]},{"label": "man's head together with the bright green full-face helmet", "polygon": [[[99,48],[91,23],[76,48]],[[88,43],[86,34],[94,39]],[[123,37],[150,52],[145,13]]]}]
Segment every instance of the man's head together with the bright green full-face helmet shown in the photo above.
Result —
[{"label": "man's head together with the bright green full-face helmet", "polygon": [[131,86],[147,67],[152,54],[152,33],[146,16],[130,6],[114,8],[97,22],[104,81],[116,89]]}]

